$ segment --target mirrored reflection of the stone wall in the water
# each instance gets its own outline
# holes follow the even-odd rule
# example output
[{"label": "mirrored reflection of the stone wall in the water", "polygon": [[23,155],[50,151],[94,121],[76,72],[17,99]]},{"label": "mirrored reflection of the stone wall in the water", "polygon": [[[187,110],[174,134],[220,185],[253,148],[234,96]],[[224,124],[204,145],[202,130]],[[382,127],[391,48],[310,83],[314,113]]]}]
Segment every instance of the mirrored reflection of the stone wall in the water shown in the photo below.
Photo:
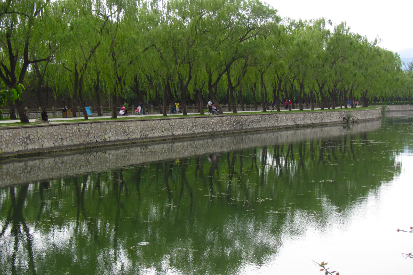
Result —
[{"label": "mirrored reflection of the stone wall in the water", "polygon": [[83,151],[59,152],[29,158],[0,161],[2,176],[0,187],[37,183],[43,180],[72,175],[113,171],[140,164],[185,159],[192,156],[229,152],[264,145],[287,145],[305,140],[333,139],[348,133],[377,130],[381,120],[324,127],[294,128],[289,130],[260,131],[151,142],[134,145],[111,146]]}]

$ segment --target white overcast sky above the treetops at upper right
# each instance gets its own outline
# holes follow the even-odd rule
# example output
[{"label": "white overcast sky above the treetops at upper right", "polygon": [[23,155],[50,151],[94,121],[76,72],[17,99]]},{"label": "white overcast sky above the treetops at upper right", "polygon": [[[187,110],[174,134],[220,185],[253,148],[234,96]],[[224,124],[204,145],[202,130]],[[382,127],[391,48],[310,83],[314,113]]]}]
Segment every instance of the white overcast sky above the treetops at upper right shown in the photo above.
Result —
[{"label": "white overcast sky above the treetops at upper right", "polygon": [[346,21],[351,31],[393,52],[413,48],[413,0],[261,0],[278,10],[281,17],[315,19],[325,17],[333,24]]}]

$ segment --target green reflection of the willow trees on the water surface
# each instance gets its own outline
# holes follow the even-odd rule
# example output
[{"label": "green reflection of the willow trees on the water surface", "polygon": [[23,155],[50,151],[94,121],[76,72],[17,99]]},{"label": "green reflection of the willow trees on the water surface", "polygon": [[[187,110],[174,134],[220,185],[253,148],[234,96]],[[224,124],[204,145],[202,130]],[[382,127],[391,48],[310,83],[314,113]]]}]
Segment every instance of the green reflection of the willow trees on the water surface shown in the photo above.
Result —
[{"label": "green reflection of the willow trees on the water surface", "polygon": [[326,230],[331,215],[345,228],[349,209],[398,176],[397,156],[413,149],[411,116],[369,131],[335,127],[320,138],[3,186],[0,273],[238,274],[264,264],[285,232]]}]

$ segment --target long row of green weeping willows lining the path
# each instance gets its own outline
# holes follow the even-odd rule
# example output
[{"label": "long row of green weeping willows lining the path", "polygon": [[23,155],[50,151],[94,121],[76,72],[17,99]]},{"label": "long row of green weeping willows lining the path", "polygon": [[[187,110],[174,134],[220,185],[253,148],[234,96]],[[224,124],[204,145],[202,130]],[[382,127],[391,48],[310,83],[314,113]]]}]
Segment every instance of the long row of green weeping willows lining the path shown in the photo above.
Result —
[{"label": "long row of green weeping willows lining the path", "polygon": [[[320,104],[347,100],[411,100],[413,72],[377,39],[352,33],[345,23],[281,20],[258,0],[1,0],[0,78],[8,89],[47,88],[70,97],[111,102],[138,97],[166,116],[180,102],[236,104],[281,100]],[[10,104],[28,123],[23,103]],[[203,113],[203,108],[199,108]]]}]

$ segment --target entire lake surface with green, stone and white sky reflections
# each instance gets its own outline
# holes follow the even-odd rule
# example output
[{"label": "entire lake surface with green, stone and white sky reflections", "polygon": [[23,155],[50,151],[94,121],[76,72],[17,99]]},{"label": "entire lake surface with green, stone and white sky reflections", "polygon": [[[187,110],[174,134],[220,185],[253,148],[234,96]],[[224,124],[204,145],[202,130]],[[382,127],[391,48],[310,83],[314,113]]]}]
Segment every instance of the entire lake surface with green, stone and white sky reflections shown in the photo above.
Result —
[{"label": "entire lake surface with green, stone and white sky reflections", "polygon": [[413,274],[412,112],[0,167],[0,274]]}]

